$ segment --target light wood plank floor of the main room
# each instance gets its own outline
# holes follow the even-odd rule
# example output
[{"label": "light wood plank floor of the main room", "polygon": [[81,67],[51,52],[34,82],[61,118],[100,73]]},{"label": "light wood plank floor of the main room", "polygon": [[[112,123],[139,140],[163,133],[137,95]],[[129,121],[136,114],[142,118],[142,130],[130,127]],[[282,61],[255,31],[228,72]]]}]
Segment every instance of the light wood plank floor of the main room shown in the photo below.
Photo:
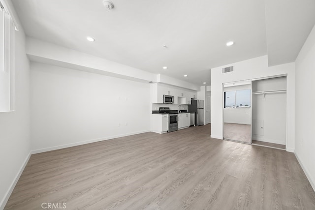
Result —
[{"label": "light wood plank floor of the main room", "polygon": [[210,138],[210,125],[31,156],[5,207],[39,210],[314,210],[293,153]]}]

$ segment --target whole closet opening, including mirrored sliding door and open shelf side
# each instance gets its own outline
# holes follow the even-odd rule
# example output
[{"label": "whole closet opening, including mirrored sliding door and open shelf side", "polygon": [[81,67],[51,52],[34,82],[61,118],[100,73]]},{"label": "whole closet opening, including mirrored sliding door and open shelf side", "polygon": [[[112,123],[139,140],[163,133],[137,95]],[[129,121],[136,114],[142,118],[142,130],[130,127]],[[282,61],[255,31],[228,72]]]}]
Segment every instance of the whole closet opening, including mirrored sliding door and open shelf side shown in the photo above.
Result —
[{"label": "whole closet opening, including mirrored sliding door and open shelf side", "polygon": [[286,76],[223,85],[223,139],[286,149]]}]

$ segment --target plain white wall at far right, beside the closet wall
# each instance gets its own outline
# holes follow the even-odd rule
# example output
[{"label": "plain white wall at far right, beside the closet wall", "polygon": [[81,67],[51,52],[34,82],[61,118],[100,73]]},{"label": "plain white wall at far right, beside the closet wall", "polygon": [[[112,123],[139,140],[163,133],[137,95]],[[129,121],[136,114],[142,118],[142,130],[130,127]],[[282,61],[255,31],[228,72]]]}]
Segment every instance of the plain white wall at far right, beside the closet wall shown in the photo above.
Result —
[{"label": "plain white wall at far right, beside the closet wall", "polygon": [[315,27],[295,65],[295,154],[315,189]]}]

